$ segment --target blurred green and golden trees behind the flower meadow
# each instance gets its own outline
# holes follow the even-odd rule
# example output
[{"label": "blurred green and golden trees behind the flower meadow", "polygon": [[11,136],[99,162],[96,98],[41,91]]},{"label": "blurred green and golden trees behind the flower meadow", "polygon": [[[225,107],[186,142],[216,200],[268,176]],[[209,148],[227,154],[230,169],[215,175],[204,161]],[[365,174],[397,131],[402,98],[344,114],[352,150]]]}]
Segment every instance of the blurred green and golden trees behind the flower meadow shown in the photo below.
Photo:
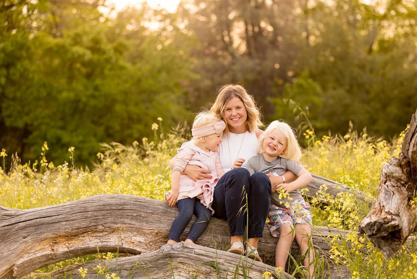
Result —
[{"label": "blurred green and golden trees behind the flower meadow", "polygon": [[[264,122],[319,134],[349,120],[391,137],[417,107],[417,5],[411,0],[187,0],[108,16],[105,0],[0,0],[0,147],[35,159],[70,146],[129,144],[193,119],[216,88],[240,82]],[[110,13],[111,14],[111,13]]]}]

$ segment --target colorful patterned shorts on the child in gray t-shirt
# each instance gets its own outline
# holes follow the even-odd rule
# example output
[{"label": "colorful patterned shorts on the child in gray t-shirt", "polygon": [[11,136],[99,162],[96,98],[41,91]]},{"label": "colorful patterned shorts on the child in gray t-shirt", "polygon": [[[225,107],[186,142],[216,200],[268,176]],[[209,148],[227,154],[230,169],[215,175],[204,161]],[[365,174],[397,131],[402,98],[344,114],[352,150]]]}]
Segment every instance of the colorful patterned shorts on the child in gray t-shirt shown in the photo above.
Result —
[{"label": "colorful patterned shorts on the child in gray t-shirt", "polygon": [[272,205],[269,207],[268,213],[268,228],[272,236],[279,237],[277,228],[284,223],[289,223],[295,226],[296,223],[307,224],[311,226],[311,212],[310,204],[302,197],[290,203],[289,208]]}]

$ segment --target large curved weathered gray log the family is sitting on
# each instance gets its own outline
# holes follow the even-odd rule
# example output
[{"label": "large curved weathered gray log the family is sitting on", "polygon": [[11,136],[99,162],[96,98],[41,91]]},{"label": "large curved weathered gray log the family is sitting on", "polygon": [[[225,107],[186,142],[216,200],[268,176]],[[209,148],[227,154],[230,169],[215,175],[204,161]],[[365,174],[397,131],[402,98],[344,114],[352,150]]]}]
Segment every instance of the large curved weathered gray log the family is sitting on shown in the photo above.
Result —
[{"label": "large curved weathered gray log the family is sitting on", "polygon": [[[0,279],[20,278],[58,261],[95,254],[97,249],[129,254],[155,251],[166,243],[177,214],[177,208],[162,201],[132,195],[94,195],[28,210],[0,207]],[[190,226],[182,240],[189,229]],[[314,227],[312,238],[317,253],[329,255],[326,237],[344,237],[347,232]],[[212,218],[197,244],[224,250],[229,240],[227,222]],[[259,253],[266,263],[272,263],[276,241],[265,226]],[[299,255],[295,241],[291,254]],[[328,264],[330,278],[350,276],[344,266]]]}]

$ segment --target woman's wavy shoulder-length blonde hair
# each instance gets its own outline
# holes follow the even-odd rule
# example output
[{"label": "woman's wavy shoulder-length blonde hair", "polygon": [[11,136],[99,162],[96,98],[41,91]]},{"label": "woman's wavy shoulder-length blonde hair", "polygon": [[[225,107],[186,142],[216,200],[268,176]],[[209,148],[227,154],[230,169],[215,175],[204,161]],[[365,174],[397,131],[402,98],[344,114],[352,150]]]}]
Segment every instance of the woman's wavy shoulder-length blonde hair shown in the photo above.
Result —
[{"label": "woman's wavy shoulder-length blonde hair", "polygon": [[246,129],[248,129],[249,132],[255,132],[257,128],[262,127],[261,113],[256,107],[254,97],[249,95],[248,91],[240,84],[228,84],[221,86],[217,93],[216,101],[214,101],[214,104],[210,109],[216,117],[222,119],[226,123],[226,128],[224,129],[226,135],[229,137],[229,125],[224,117],[224,107],[226,107],[227,102],[234,97],[238,97],[245,106],[247,114]]}]

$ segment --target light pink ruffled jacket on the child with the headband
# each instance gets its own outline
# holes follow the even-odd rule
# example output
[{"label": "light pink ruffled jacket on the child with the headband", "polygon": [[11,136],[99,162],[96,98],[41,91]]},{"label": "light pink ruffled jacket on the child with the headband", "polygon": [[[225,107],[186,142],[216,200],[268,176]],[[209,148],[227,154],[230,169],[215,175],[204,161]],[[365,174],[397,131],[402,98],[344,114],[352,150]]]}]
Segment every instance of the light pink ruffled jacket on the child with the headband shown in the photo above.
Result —
[{"label": "light pink ruffled jacket on the child with the headband", "polygon": [[[182,173],[187,164],[198,165],[199,167],[210,170],[209,175],[211,175],[211,179],[194,182],[187,175],[181,175],[178,200],[197,197],[203,205],[211,210],[211,213],[214,213],[213,208],[211,208],[214,187],[220,179],[217,174],[223,170],[220,165],[219,152],[205,152],[191,142],[184,142],[178,149],[178,157],[173,171],[179,170]],[[165,194],[165,201],[170,193],[171,190]]]}]

